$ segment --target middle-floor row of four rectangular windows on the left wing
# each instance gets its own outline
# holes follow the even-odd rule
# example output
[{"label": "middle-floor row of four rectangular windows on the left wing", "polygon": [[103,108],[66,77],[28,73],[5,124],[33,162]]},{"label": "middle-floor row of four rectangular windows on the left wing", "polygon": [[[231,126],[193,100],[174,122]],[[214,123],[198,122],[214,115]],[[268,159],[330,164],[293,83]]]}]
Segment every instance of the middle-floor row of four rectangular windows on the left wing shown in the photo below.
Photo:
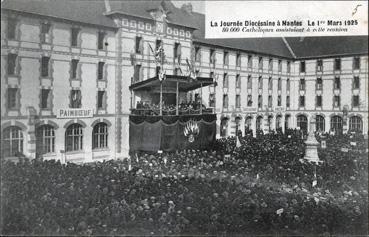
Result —
[{"label": "middle-floor row of four rectangular windows on the left wing", "polygon": [[[8,54],[8,60],[7,60],[8,75],[14,76],[17,74],[17,65],[18,65],[17,58],[18,58],[17,54],[13,54],[13,53]],[[79,60],[72,59],[70,65],[71,65],[71,71],[70,71],[71,79],[78,79],[80,77]],[[97,79],[98,80],[104,80],[104,68],[105,68],[105,62],[98,62],[97,64]],[[41,58],[41,77],[50,77],[51,76],[50,71],[51,71],[50,57],[43,56]]]}]

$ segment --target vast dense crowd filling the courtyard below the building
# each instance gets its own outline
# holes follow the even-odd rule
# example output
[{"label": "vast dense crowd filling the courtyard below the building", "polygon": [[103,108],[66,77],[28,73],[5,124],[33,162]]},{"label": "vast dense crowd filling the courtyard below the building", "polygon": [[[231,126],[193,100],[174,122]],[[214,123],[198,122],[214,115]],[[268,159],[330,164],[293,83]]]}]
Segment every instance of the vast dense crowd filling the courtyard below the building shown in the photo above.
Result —
[{"label": "vast dense crowd filling the courtyard below the building", "polygon": [[[6,234],[366,235],[367,140],[298,131],[217,140],[209,150],[136,153],[85,165],[2,165]],[[349,152],[342,149],[347,147]]]}]

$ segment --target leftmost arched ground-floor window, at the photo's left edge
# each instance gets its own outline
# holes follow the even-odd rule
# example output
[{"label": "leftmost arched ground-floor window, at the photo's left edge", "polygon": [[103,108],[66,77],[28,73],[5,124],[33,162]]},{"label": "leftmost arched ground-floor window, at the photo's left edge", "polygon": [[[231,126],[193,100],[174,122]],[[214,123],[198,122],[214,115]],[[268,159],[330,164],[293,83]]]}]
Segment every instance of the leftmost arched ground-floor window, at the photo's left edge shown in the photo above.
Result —
[{"label": "leftmost arched ground-floor window, at the photo's left edge", "polygon": [[10,126],[3,131],[3,157],[17,156],[23,153],[23,132],[17,126]]}]

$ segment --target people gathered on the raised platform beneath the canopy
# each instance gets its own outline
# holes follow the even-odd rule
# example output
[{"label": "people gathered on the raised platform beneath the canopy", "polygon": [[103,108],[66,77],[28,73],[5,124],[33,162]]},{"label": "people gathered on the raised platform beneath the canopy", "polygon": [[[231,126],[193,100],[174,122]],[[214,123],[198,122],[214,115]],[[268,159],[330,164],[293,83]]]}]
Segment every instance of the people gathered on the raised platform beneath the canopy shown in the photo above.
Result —
[{"label": "people gathered on the raised platform beneath the canopy", "polygon": [[[211,113],[212,110],[206,108],[205,105],[200,102],[181,102],[178,105],[179,114],[199,114],[200,107],[202,113]],[[165,104],[162,105],[162,111],[164,115],[176,115],[176,105],[173,104]],[[144,101],[138,101],[136,105],[136,109],[133,109],[132,112],[137,115],[159,115],[160,113],[160,104],[153,104]]]}]

